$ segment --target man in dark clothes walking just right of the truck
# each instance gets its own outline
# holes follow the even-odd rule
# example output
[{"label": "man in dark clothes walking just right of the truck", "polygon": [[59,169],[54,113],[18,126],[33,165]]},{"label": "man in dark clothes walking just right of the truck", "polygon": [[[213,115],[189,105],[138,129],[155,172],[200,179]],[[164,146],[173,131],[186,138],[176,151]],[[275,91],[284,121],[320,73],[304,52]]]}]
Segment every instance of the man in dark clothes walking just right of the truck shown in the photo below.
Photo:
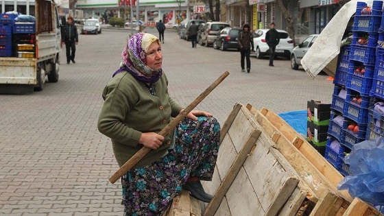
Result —
[{"label": "man in dark clothes walking just right of the truck", "polygon": [[69,64],[70,61],[76,63],[75,53],[76,45],[77,43],[79,43],[79,36],[77,35],[77,27],[73,23],[72,16],[68,16],[67,18],[67,25],[65,25],[64,27],[62,38],[64,38],[64,41],[62,41],[62,43],[65,43],[65,49],[67,51],[67,64]]}]

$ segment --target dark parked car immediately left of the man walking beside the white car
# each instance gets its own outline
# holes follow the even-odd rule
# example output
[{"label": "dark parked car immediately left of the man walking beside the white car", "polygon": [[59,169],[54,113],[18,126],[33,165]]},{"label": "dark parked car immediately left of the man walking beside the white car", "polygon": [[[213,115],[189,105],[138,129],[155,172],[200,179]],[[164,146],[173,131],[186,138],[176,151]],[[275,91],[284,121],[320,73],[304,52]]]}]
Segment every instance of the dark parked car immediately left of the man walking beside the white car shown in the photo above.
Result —
[{"label": "dark parked car immediately left of the man walking beside the white car", "polygon": [[221,49],[222,51],[226,49],[239,49],[239,42],[237,41],[239,32],[241,32],[241,28],[239,27],[225,27],[219,32],[219,35],[213,42],[213,48]]}]

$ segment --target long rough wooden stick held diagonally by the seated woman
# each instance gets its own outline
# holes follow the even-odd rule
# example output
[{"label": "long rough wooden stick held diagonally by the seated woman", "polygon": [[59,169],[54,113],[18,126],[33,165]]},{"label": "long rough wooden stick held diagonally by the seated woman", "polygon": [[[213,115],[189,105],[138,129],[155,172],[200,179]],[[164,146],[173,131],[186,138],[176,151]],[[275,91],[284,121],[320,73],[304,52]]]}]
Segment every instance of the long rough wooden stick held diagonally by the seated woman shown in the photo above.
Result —
[{"label": "long rough wooden stick held diagonally by the seated woman", "polygon": [[[206,88],[206,90],[203,93],[201,93],[194,101],[192,101],[192,103],[189,104],[187,108],[185,108],[182,112],[180,112],[180,114],[177,117],[172,119],[172,121],[169,122],[169,124],[165,126],[165,128],[163,128],[163,130],[161,130],[158,134],[165,136],[171,130],[173,130],[173,128],[175,128],[176,125],[178,125],[178,123],[180,123],[180,121],[182,121],[182,119],[184,119],[184,117],[186,117],[187,114],[197,106],[197,104],[200,104],[200,102],[209,93],[211,93],[211,91],[213,91],[213,89],[215,89],[216,86],[218,86],[228,75],[229,75],[228,71],[224,72],[219,78],[217,78],[215,82],[213,82],[213,84],[211,84],[211,86]],[[132,156],[132,158],[130,158],[130,160],[125,162],[125,164],[121,166],[120,169],[115,174],[113,174],[113,176],[109,178],[109,181],[112,184],[114,184],[119,178],[121,178],[121,176],[123,176],[130,169],[132,169],[132,167],[134,167],[134,165],[136,165],[136,163],[138,163],[139,160],[141,160],[150,150],[151,149],[149,149],[148,147],[142,147],[138,152],[136,152],[136,154],[134,154],[134,156]]]}]

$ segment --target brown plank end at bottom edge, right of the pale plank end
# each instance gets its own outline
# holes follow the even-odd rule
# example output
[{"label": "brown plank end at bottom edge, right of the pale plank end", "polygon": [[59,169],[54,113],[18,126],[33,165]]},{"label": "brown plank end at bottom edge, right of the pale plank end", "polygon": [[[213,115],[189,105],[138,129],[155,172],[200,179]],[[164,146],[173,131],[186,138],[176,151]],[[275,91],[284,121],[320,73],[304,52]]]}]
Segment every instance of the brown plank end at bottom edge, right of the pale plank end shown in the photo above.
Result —
[{"label": "brown plank end at bottom edge, right of the pale plank end", "polygon": [[317,202],[309,216],[336,215],[341,204],[343,204],[341,197],[331,191],[326,191],[326,193],[320,197],[319,202]]}]

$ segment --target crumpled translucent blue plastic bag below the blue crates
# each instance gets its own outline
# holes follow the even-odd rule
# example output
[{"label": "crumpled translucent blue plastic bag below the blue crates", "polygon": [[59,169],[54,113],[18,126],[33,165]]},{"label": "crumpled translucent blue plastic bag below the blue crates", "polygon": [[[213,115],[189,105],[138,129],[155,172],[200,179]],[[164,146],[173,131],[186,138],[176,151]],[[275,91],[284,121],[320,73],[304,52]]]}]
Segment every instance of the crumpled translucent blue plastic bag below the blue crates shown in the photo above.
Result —
[{"label": "crumpled translucent blue plastic bag below the blue crates", "polygon": [[344,158],[351,175],[337,185],[375,206],[384,205],[384,138],[357,143],[350,155]]}]

